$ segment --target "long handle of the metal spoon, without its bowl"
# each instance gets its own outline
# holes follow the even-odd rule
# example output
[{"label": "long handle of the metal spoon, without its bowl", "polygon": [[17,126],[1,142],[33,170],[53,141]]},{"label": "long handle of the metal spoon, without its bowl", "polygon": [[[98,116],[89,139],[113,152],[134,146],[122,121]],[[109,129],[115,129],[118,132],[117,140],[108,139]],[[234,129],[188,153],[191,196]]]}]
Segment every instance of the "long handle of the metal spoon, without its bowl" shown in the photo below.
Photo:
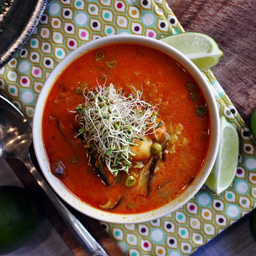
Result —
[{"label": "long handle of the metal spoon, without its bowl", "polygon": [[34,167],[31,161],[30,155],[24,156],[21,161],[29,169],[30,173],[34,176],[34,179],[44,190],[48,198],[54,204],[55,208],[66,222],[69,229],[71,229],[76,236],[77,240],[81,243],[81,246],[89,256],[108,256],[107,252],[101,247],[101,245],[94,239],[88,230],[81,224],[81,222],[67,209],[67,207],[61,202],[58,196],[50,188],[47,182],[42,178],[40,173]]}]

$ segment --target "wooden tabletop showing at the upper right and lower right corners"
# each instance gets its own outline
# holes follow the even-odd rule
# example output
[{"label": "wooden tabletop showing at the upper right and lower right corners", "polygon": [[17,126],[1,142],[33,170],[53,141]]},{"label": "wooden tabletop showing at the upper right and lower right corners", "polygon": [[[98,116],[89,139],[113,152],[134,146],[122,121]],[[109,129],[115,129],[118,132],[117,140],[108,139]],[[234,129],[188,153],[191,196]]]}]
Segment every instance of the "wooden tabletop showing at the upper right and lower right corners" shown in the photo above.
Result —
[{"label": "wooden tabletop showing at the upper right and lower right corners", "polygon": [[[185,31],[213,37],[223,57],[212,68],[243,120],[250,127],[256,106],[255,0],[167,0]],[[193,256],[256,255],[249,216],[199,248]]]}]

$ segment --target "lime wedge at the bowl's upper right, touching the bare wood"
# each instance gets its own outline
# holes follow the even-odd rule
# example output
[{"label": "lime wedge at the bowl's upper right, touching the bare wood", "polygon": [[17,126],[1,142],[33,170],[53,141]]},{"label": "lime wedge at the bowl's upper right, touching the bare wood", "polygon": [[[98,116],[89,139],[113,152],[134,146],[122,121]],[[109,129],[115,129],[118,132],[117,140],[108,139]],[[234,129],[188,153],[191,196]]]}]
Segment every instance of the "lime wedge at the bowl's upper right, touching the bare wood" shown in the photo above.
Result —
[{"label": "lime wedge at the bowl's upper right, touching the bare wood", "polygon": [[202,33],[185,32],[166,36],[161,41],[185,54],[201,71],[216,66],[223,55],[216,41]]}]

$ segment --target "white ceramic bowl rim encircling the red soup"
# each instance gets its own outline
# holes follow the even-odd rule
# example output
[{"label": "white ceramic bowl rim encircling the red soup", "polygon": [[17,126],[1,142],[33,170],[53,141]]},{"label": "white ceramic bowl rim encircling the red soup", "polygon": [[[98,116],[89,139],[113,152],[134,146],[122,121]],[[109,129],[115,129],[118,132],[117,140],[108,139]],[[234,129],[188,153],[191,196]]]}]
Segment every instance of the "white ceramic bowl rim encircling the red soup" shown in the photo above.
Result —
[{"label": "white ceramic bowl rim encircling the red soup", "polygon": [[[131,214],[131,215],[122,215],[116,213],[109,213],[99,209],[95,209],[94,207],[89,206],[88,204],[82,202],[79,198],[73,195],[61,182],[58,178],[52,175],[49,167],[49,163],[47,161],[47,155],[44,149],[43,141],[42,141],[42,114],[45,101],[47,99],[47,95],[53,86],[56,78],[59,74],[67,67],[71,62],[80,57],[82,54],[93,50],[98,47],[102,47],[105,45],[109,45],[117,42],[130,42],[141,44],[145,46],[153,47],[169,56],[171,56],[175,61],[180,63],[197,81],[199,87],[201,88],[206,103],[209,107],[209,115],[210,115],[210,147],[208,155],[203,163],[202,170],[195,177],[193,182],[189,185],[185,191],[179,195],[172,202],[162,206],[159,209],[151,210],[149,212],[140,213],[140,214]],[[209,173],[214,165],[218,146],[220,140],[220,121],[218,109],[216,106],[215,97],[209,87],[208,82],[202,75],[201,71],[195,66],[195,64],[190,61],[185,55],[176,50],[173,47],[155,39],[151,39],[145,36],[137,36],[137,35],[114,35],[108,36],[101,39],[97,39],[87,44],[77,48],[72,53],[68,54],[57,67],[54,68],[53,72],[48,76],[41,92],[36,102],[36,107],[34,111],[34,121],[33,121],[33,142],[34,149],[36,153],[37,160],[39,162],[40,168],[45,175],[47,181],[51,185],[51,187],[55,190],[55,192],[60,195],[60,197],[66,201],[69,205],[77,209],[78,211],[98,219],[100,221],[105,222],[115,222],[115,223],[138,223],[138,222],[146,222],[157,219],[159,217],[165,216],[170,212],[175,211],[180,208],[183,204],[189,201],[196,192],[202,187],[204,182],[206,181]]]}]

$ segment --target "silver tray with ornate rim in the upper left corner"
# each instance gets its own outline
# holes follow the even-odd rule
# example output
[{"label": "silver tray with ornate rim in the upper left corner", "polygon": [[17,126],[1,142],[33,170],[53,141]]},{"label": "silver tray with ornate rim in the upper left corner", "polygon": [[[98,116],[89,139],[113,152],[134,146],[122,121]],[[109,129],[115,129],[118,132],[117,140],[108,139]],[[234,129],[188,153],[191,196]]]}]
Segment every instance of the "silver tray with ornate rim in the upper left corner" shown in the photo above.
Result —
[{"label": "silver tray with ornate rim in the upper left corner", "polygon": [[48,2],[48,0],[13,0],[0,26],[3,29],[0,33],[0,68],[7,64],[27,42]]}]

